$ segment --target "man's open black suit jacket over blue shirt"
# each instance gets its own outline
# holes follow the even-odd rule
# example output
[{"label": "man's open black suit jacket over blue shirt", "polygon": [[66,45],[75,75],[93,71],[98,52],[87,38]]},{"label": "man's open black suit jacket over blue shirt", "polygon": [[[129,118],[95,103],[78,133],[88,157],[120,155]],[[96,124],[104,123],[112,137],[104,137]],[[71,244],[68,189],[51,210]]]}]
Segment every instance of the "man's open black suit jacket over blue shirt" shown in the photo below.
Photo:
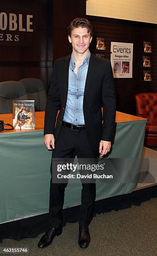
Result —
[{"label": "man's open black suit jacket over blue shirt", "polygon": [[[48,91],[44,135],[59,135],[68,94],[68,71],[71,55],[55,61]],[[103,115],[101,112],[103,107]],[[60,113],[57,118],[57,112]],[[83,100],[86,133],[95,151],[101,140],[112,141],[115,129],[116,97],[111,63],[91,54]],[[103,120],[103,124],[102,124]],[[56,123],[56,127],[55,127]]]}]

